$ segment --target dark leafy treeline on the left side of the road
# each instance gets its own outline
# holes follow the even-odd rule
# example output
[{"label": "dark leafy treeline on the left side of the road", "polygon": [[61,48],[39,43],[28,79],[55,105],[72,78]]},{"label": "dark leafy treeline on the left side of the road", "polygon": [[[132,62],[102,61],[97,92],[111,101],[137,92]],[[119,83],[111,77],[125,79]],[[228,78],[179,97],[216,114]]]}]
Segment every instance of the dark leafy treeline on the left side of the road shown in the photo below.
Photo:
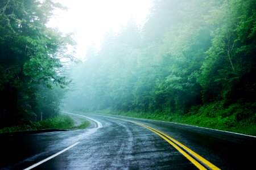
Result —
[{"label": "dark leafy treeline on the left side of the road", "polygon": [[0,2],[0,128],[59,113],[61,87],[67,85],[60,57],[71,40],[46,27],[54,8],[62,7],[52,1]]}]

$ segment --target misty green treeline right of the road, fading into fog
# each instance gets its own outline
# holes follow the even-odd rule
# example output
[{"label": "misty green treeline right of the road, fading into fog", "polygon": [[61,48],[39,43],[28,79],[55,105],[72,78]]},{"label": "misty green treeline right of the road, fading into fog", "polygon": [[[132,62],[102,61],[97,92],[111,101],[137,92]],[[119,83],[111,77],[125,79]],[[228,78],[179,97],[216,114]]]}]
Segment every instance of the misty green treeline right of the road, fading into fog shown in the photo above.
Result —
[{"label": "misty green treeline right of the road, fading into fog", "polygon": [[73,69],[73,109],[255,122],[256,1],[154,1],[139,29],[109,31]]}]

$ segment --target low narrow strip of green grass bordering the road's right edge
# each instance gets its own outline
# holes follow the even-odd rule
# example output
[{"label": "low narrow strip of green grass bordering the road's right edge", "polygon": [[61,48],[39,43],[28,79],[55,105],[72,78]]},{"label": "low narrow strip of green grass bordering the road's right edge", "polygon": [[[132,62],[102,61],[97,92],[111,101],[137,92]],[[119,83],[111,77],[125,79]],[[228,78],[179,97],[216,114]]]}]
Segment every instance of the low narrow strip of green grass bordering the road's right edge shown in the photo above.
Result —
[{"label": "low narrow strip of green grass bordering the road's right edge", "polygon": [[[175,114],[175,113],[111,111],[111,109],[97,111],[94,113],[107,113],[107,114],[114,114],[118,116],[137,117],[137,118],[145,118],[150,120],[175,122],[178,124],[193,125],[193,126],[199,126],[203,128],[224,130],[224,131],[230,131],[234,133],[241,133],[241,134],[256,136],[255,116],[238,120],[237,115],[239,115],[240,113],[226,114],[226,112],[228,112],[226,110],[221,110],[220,108],[213,110],[210,108],[214,108],[214,107],[212,105],[209,105],[205,108],[200,108],[196,113],[189,112],[189,114],[183,114],[183,115]],[[225,116],[223,116],[224,113],[225,113]]]}]

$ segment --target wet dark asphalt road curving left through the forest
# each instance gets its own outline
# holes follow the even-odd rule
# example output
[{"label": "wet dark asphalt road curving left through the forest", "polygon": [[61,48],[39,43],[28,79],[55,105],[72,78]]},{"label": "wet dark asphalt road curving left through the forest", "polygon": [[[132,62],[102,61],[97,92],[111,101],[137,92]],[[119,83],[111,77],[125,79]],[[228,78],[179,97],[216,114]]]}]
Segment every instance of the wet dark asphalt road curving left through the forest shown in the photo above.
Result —
[{"label": "wet dark asphalt road curving left through the forest", "polygon": [[[82,114],[88,129],[0,135],[1,169],[255,169],[256,138],[170,122]],[[77,115],[79,116],[79,115]]]}]

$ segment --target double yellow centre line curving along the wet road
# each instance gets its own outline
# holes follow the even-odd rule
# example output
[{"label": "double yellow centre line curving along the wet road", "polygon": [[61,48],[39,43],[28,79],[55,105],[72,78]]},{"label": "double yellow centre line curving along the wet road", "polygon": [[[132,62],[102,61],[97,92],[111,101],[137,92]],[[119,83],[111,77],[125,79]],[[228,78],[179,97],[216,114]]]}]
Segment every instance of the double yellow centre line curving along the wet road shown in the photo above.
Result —
[{"label": "double yellow centre line curving along the wet road", "polygon": [[[114,118],[114,117],[109,117],[109,118]],[[164,140],[166,140],[168,143],[170,143],[173,147],[175,147],[176,150],[178,150],[182,155],[185,156],[185,158],[187,158],[191,163],[193,163],[199,169],[214,169],[214,170],[220,169],[220,168],[216,167],[216,165],[213,165],[208,160],[204,159],[202,156],[200,156],[196,152],[192,151],[187,146],[183,145],[179,141],[176,141],[174,138],[168,136],[167,134],[164,134],[163,132],[161,132],[159,130],[151,128],[150,126],[139,124],[138,122],[124,120],[121,118],[114,118],[114,119],[131,122],[133,124],[142,126],[144,128],[147,128],[148,130],[151,130],[152,132],[158,134],[160,137],[162,137]]]}]

